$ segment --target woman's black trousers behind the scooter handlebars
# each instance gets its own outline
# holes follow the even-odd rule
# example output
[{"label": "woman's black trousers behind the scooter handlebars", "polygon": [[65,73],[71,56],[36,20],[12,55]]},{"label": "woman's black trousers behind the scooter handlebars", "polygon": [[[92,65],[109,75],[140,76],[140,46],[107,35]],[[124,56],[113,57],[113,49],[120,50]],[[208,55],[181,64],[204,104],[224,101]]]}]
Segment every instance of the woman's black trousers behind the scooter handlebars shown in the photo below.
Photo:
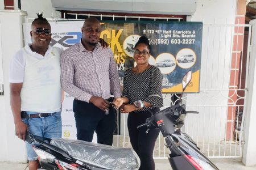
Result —
[{"label": "woman's black trousers behind the scooter handlebars", "polygon": [[[153,113],[160,111],[159,108],[151,109]],[[155,162],[153,159],[153,150],[156,138],[159,135],[159,129],[150,129],[146,134],[146,128],[137,129],[138,125],[144,124],[146,118],[151,117],[148,111],[131,112],[128,116],[128,130],[130,135],[131,146],[141,159],[139,170],[154,170]]]}]

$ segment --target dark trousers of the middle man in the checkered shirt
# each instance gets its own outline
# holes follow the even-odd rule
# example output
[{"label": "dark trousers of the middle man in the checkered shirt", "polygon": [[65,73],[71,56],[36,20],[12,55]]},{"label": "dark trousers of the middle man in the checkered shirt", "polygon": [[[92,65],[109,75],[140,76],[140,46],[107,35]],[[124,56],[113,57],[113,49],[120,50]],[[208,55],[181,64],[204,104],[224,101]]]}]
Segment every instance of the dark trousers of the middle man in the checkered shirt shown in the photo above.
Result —
[{"label": "dark trousers of the middle man in the checkered shirt", "polygon": [[92,142],[94,131],[97,133],[97,142],[112,145],[115,128],[115,109],[110,107],[109,114],[97,108],[92,103],[74,100],[77,139]]}]

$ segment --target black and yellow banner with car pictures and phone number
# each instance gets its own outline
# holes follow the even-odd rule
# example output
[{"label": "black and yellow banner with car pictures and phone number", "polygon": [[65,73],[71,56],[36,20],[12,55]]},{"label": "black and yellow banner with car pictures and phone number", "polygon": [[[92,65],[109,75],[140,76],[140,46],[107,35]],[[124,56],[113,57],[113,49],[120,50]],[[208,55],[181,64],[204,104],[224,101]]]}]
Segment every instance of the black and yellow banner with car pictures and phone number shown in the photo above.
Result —
[{"label": "black and yellow banner with car pictures and phone number", "polygon": [[192,80],[185,92],[199,92],[201,41],[200,22],[105,22],[101,38],[114,52],[121,84],[125,70],[134,67],[134,45],[139,37],[150,40],[149,63],[163,74],[163,92],[181,92],[182,76],[192,71]]}]

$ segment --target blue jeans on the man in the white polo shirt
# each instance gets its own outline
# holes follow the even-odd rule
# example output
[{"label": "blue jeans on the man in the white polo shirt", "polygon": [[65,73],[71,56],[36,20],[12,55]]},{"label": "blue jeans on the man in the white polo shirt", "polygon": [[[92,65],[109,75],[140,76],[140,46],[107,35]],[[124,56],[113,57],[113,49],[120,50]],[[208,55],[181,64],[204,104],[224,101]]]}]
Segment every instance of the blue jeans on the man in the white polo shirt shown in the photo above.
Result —
[{"label": "blue jeans on the man in the white polo shirt", "polygon": [[[35,114],[35,112],[27,112],[27,114]],[[61,138],[62,125],[60,112],[55,113],[53,116],[43,118],[22,118],[24,124],[28,125],[30,133],[45,138]],[[32,148],[36,143],[27,143],[27,158],[28,160],[37,160],[38,155]]]}]

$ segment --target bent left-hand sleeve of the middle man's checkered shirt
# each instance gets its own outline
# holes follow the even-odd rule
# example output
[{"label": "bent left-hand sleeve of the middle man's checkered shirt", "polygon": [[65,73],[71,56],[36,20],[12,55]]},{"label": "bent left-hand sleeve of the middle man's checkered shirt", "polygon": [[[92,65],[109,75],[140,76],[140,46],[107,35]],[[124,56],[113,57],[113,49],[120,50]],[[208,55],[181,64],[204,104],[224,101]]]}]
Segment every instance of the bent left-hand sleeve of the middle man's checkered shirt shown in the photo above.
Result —
[{"label": "bent left-hand sleeve of the middle man's checkered shirt", "polygon": [[76,87],[73,83],[74,78],[74,65],[71,55],[68,52],[63,52],[60,57],[61,66],[61,86],[65,92],[75,97],[78,100],[86,101],[89,103],[92,95],[80,88]]}]

